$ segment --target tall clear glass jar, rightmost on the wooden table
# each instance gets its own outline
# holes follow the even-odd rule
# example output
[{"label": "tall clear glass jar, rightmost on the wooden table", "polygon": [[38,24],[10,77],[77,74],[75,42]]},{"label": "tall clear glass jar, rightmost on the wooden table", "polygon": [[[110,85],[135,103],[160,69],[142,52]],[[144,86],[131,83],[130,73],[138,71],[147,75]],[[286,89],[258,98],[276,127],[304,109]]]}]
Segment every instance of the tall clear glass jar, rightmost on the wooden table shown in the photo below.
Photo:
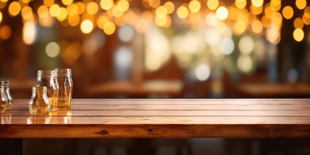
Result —
[{"label": "tall clear glass jar, rightmost on the wooden table", "polygon": [[73,82],[71,69],[55,68],[59,86],[57,110],[70,110],[72,102]]}]

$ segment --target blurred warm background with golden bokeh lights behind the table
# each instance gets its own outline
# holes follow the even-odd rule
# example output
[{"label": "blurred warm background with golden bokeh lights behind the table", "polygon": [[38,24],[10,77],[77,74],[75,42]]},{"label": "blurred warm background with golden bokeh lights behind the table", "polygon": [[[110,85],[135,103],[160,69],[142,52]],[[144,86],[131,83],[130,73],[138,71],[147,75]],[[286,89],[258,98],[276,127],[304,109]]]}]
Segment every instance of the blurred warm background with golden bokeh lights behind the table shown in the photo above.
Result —
[{"label": "blurred warm background with golden bokeh lights behind the table", "polygon": [[30,98],[71,68],[73,98],[308,98],[306,0],[0,0],[0,79]]}]

